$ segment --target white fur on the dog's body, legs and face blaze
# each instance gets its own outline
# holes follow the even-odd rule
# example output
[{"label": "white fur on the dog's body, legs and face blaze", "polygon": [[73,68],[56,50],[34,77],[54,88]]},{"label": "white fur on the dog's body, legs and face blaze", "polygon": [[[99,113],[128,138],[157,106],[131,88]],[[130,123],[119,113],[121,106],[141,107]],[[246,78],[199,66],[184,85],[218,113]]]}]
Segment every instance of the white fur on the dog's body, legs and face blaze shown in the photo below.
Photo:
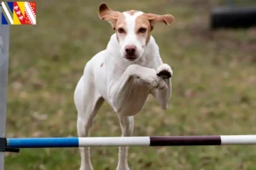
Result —
[{"label": "white fur on the dog's body, legs and face blaze", "polygon": [[[120,46],[116,35],[113,34],[108,47],[85,65],[84,75],[80,78],[74,93],[79,137],[88,137],[96,112],[104,100],[119,116],[122,136],[132,135],[133,116],[142,110],[148,94],[153,94],[163,109],[167,108],[172,93],[172,78],[163,79],[156,74],[164,70],[172,74],[172,69],[169,65],[163,64],[154,37],[150,37],[142,56],[137,60],[129,61],[122,57],[121,50],[125,44],[140,44],[132,35],[134,19],[131,19],[126,20],[131,35],[128,34],[127,39],[121,42],[124,45]],[[80,148],[80,152],[80,170],[93,169],[90,149]],[[127,156],[128,147],[119,147],[117,170],[129,170]]]}]

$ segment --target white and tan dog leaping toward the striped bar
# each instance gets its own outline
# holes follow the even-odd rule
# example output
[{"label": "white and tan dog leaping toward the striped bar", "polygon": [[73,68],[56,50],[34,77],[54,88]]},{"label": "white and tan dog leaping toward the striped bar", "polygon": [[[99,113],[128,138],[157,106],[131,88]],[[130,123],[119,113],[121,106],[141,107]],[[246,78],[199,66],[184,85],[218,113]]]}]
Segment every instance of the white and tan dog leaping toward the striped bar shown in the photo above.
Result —
[{"label": "white and tan dog leaping toward the striped bar", "polygon": [[[99,7],[99,17],[107,20],[115,33],[105,50],[84,67],[74,92],[78,111],[79,137],[88,137],[94,117],[106,100],[119,117],[122,136],[131,136],[134,119],[153,94],[166,110],[172,94],[172,68],[160,58],[159,47],[150,32],[156,23],[172,24],[171,14],[145,14],[130,10],[113,11],[106,3]],[[129,170],[128,146],[119,147],[117,170]],[[80,170],[92,170],[90,148],[79,148]]]}]

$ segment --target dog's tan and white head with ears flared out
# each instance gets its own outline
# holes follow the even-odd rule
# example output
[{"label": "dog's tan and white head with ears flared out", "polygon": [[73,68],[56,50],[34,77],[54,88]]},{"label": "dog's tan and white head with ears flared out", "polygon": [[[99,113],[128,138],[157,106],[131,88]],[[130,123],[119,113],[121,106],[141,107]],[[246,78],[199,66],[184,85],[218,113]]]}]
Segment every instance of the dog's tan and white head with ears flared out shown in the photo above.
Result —
[{"label": "dog's tan and white head with ears flared out", "polygon": [[106,3],[100,5],[99,17],[111,24],[116,32],[122,57],[131,61],[143,56],[155,23],[170,25],[174,21],[171,14],[144,14],[135,10],[120,13],[108,8]]}]

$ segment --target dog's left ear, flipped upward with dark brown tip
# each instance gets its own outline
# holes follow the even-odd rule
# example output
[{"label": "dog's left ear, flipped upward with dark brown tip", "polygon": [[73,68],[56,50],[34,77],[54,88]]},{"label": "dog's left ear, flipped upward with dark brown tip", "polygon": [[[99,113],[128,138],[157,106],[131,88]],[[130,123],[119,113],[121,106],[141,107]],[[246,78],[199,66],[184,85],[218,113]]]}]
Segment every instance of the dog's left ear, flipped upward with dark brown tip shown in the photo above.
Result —
[{"label": "dog's left ear, flipped upward with dark brown tip", "polygon": [[107,20],[113,27],[113,30],[115,29],[115,24],[118,20],[119,14],[121,14],[119,11],[113,11],[106,3],[102,3],[99,7],[100,19]]}]

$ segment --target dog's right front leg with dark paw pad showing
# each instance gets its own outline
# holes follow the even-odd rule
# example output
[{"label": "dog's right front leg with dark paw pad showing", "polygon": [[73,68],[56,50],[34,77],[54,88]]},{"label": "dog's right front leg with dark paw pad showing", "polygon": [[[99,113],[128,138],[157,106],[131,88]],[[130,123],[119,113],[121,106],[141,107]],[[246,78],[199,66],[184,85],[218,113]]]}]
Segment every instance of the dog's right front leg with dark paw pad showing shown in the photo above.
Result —
[{"label": "dog's right front leg with dark paw pad showing", "polygon": [[162,90],[153,89],[152,94],[161,108],[166,110],[168,101],[172,95],[172,68],[167,64],[161,64],[157,68],[157,76],[166,82],[168,88]]}]

